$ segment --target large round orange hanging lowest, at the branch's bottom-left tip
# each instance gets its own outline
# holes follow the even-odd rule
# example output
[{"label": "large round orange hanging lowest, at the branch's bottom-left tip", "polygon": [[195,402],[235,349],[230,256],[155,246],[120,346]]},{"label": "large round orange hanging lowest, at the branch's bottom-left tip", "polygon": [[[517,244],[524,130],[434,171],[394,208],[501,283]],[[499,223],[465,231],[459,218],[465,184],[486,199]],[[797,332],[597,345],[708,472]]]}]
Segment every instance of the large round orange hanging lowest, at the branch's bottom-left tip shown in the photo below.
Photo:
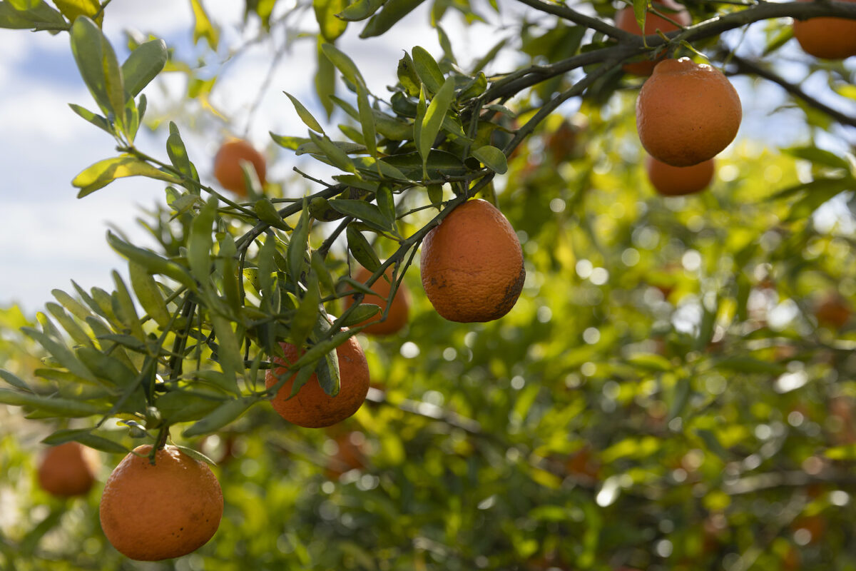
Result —
[{"label": "large round orange hanging lowest, at the branch's bottom-left tip", "polygon": [[147,457],[134,449],[104,485],[99,514],[110,544],[137,561],[187,555],[206,544],[223,516],[223,492],[211,468],[175,446]]}]

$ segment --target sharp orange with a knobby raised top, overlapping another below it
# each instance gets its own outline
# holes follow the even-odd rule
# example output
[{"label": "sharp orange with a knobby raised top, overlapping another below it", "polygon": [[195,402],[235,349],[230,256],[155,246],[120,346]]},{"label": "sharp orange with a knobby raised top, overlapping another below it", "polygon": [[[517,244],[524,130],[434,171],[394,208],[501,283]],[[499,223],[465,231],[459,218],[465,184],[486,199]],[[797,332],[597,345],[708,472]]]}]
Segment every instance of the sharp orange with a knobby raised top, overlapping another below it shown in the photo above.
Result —
[{"label": "sharp orange with a knobby raised top, overlapping another below it", "polygon": [[737,136],[740,97],[716,68],[688,57],[657,63],[636,98],[645,151],[675,167],[714,158]]}]

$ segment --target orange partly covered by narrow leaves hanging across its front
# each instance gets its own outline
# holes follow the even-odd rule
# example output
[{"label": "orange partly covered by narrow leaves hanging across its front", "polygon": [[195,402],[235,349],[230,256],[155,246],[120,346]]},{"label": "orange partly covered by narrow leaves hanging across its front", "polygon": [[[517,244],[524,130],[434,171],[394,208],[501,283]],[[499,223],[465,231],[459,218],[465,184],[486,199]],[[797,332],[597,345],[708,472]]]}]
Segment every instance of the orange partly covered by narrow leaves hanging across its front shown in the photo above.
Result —
[{"label": "orange partly covered by narrow leaves hanging across its front", "polygon": [[[300,358],[303,351],[298,351],[292,343],[280,343],[285,359],[274,357],[274,362],[288,365]],[[294,373],[285,384],[276,391],[270,401],[274,410],[283,419],[305,428],[322,428],[335,425],[357,412],[366,401],[369,392],[369,366],[366,354],[360,348],[355,337],[336,348],[339,357],[339,392],[330,396],[318,384],[318,375],[312,373],[297,394],[291,398],[291,387],[294,384]],[[265,386],[270,389],[279,382],[278,376],[288,371],[286,367],[268,369],[265,374]]]}]

